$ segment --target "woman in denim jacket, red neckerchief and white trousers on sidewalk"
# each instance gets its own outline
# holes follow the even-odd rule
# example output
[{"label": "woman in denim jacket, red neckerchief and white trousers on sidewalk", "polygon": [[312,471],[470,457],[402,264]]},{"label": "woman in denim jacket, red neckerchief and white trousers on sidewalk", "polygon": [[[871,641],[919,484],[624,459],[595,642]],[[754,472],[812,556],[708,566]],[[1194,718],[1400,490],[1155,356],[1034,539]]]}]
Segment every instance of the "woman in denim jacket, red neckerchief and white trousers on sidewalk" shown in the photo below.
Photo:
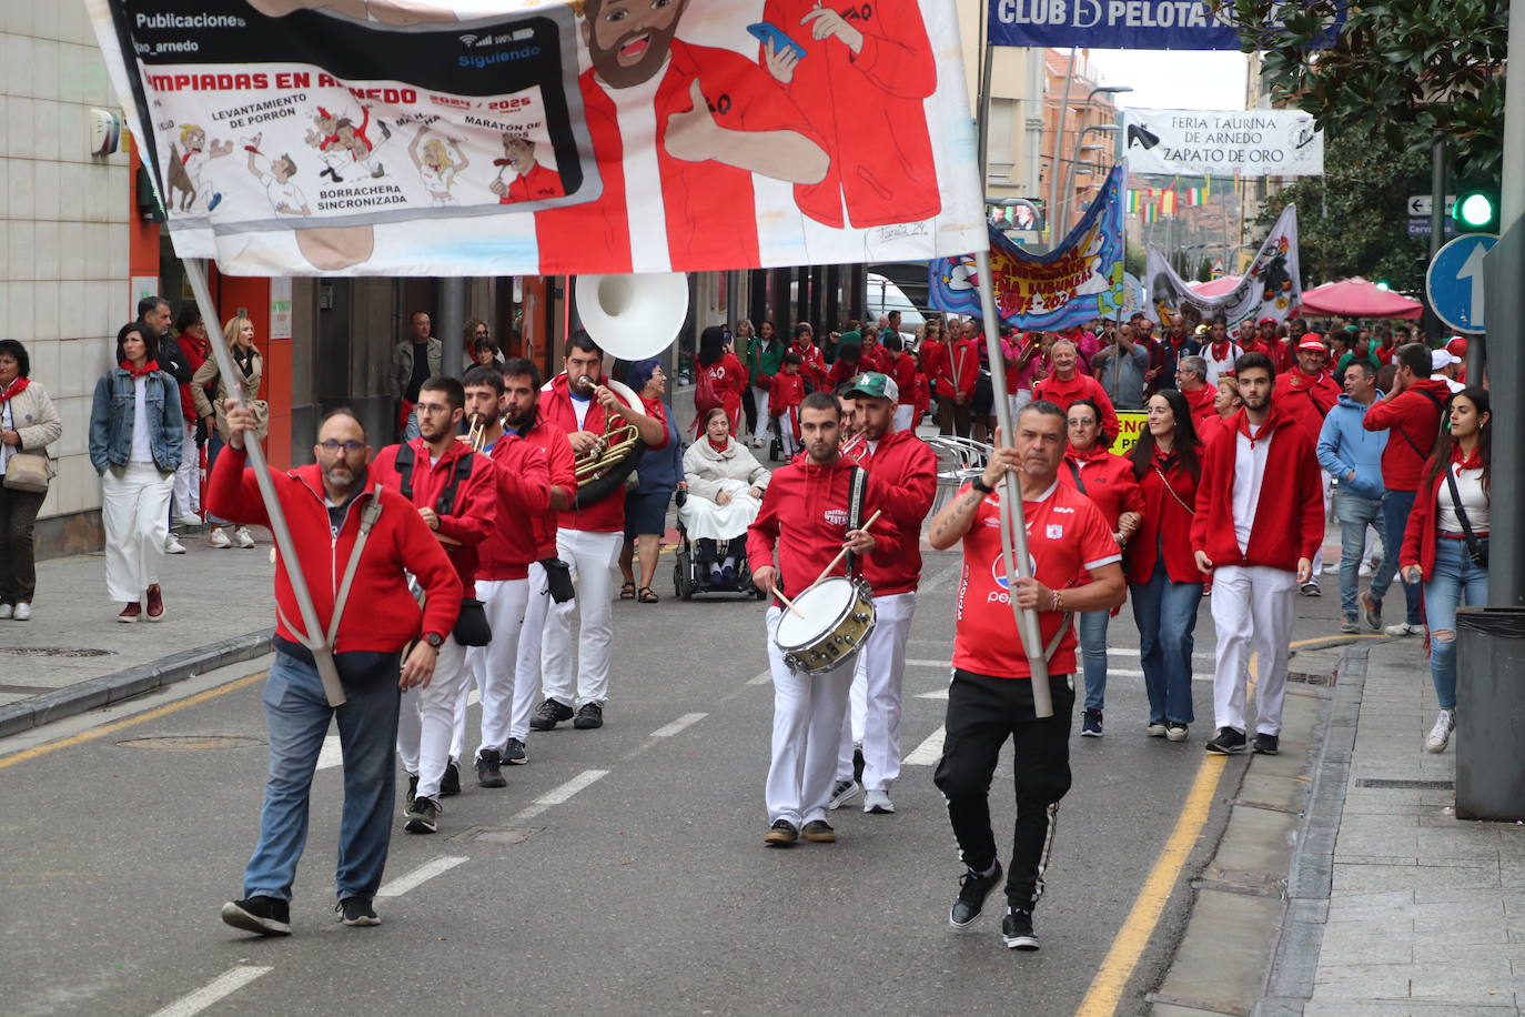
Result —
[{"label": "woman in denim jacket, red neckerchief and white trousers on sidewalk", "polygon": [[169,492],[185,441],[180,386],[159,369],[137,322],[117,331],[116,361],[96,381],[90,409],[90,462],[101,474],[105,521],[105,584],[113,599],[127,601],[116,621],[136,622],[146,614],[157,622],[165,616],[159,567],[169,535]]}]

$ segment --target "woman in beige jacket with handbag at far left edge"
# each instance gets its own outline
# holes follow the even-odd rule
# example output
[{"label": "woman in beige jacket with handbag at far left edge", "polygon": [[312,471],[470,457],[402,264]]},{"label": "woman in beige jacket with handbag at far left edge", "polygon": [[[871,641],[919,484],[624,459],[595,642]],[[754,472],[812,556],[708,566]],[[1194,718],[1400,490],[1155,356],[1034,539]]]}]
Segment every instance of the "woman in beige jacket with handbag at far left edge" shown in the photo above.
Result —
[{"label": "woman in beige jacket with handbag at far left edge", "polygon": [[18,622],[32,618],[37,592],[32,525],[53,476],[47,445],[64,433],[47,389],[30,375],[26,346],[0,338],[0,619]]}]

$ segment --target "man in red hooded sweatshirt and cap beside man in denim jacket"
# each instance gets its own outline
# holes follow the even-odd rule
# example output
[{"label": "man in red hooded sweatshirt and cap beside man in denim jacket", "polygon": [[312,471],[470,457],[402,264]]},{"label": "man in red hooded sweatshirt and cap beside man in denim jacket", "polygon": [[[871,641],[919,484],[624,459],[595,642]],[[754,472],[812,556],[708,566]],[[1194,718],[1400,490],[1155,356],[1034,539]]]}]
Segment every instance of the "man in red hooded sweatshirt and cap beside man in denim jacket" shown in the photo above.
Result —
[{"label": "man in red hooded sweatshirt and cap beside man in denim jacket", "polygon": [[[1368,432],[1388,432],[1388,445],[1382,450],[1382,540],[1389,549],[1403,546],[1414,494],[1450,396],[1446,380],[1430,377],[1430,352],[1424,343],[1398,346],[1394,363],[1398,374],[1392,392],[1372,403],[1360,421]],[[1424,631],[1424,587],[1405,582],[1403,599],[1408,614],[1385,631],[1389,636],[1418,636]],[[1376,593],[1372,607],[1382,613],[1382,598]]]}]

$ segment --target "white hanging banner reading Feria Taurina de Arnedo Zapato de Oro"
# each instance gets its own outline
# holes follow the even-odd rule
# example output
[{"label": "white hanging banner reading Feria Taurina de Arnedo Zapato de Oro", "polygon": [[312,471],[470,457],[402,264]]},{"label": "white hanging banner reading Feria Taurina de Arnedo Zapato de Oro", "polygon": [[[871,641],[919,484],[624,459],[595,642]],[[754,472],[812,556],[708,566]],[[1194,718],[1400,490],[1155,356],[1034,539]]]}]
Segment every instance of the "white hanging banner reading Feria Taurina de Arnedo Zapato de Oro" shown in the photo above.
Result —
[{"label": "white hanging banner reading Feria Taurina de Arnedo Zapato de Oro", "polygon": [[1127,110],[1124,156],[1136,174],[1316,177],[1324,131],[1302,110]]}]

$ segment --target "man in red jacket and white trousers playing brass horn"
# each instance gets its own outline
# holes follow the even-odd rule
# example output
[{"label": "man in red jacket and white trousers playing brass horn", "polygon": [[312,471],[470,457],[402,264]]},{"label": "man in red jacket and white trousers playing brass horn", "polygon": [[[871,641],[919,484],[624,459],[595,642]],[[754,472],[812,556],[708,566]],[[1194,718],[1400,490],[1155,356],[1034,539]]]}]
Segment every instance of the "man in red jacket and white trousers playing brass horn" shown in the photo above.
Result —
[{"label": "man in red jacket and white trousers playing brass horn", "polygon": [[[590,451],[613,418],[634,425],[637,441],[647,448],[665,448],[666,422],[625,406],[608,387],[604,351],[593,337],[578,329],[566,342],[566,374],[546,389],[541,413],[561,427],[578,456]],[[613,653],[613,590],[610,578],[619,549],[625,543],[625,488],[616,485],[593,505],[561,512],[557,520],[557,555],[567,563],[573,579],[581,579],[581,627],[578,630],[576,688],[572,685],[572,608],[573,602],[552,604],[541,646],[541,685],[546,701],[529,726],[551,730],[572,720],[578,730],[604,726],[608,701],[608,659]],[[573,711],[575,704],[575,711]],[[575,720],[573,720],[575,718]]]}]

